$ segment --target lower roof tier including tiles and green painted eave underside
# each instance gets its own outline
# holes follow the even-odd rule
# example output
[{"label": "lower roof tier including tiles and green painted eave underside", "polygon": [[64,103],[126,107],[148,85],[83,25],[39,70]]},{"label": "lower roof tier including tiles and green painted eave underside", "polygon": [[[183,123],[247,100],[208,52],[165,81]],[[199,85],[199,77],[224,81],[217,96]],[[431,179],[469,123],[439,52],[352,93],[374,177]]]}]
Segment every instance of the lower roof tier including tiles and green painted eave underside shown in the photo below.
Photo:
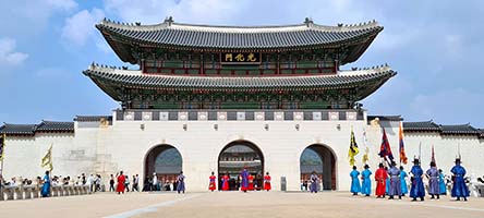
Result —
[{"label": "lower roof tier including tiles and green painted eave underside", "polygon": [[83,72],[114,100],[123,89],[193,90],[193,92],[323,92],[354,88],[364,98],[379,88],[397,72],[388,65],[340,71],[334,75],[281,76],[199,76],[144,74],[138,70],[92,64]]}]

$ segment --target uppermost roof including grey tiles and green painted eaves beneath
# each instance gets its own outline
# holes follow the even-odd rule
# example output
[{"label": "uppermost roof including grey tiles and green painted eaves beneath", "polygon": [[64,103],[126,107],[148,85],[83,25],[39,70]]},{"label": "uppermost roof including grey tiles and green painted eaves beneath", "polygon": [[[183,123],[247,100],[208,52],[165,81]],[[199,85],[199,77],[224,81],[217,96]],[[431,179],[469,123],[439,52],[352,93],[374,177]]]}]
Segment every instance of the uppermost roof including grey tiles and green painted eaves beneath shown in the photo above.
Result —
[{"label": "uppermost roof including grey tiles and green painted eaves beneath", "polygon": [[216,26],[176,23],[167,19],[155,25],[104,20],[96,27],[125,62],[136,63],[131,51],[138,47],[199,52],[285,52],[322,48],[347,48],[341,64],[353,62],[383,31],[377,22],[326,26],[306,19],[303,24],[280,26]]}]

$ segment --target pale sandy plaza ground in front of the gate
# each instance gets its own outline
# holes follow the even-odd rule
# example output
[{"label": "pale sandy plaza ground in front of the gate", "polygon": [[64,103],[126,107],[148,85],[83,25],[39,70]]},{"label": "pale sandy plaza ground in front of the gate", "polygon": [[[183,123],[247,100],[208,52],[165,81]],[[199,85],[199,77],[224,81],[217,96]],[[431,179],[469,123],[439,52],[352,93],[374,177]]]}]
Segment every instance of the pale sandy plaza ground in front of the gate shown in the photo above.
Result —
[{"label": "pale sandy plaza ground in front of the gate", "polygon": [[410,202],[347,192],[100,193],[0,202],[0,217],[484,217],[484,198]]}]

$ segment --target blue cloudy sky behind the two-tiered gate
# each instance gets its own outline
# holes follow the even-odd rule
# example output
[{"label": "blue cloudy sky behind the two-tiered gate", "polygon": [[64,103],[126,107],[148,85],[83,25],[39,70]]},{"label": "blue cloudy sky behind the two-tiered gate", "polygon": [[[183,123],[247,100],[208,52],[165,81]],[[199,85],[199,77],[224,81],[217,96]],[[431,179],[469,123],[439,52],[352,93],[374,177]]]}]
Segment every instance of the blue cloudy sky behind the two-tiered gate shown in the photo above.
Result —
[{"label": "blue cloudy sky behind the two-tiered gate", "polygon": [[72,121],[119,107],[82,71],[122,62],[95,28],[104,17],[156,24],[358,24],[385,29],[355,62],[398,75],[362,101],[370,114],[484,128],[484,1],[0,0],[0,123]]}]

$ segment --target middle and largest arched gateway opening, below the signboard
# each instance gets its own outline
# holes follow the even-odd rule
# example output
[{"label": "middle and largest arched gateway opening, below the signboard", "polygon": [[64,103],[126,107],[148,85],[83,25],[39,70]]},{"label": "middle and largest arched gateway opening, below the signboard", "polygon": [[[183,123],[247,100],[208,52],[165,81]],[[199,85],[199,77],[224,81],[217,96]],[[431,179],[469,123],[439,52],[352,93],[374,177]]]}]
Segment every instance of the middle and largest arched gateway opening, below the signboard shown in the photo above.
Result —
[{"label": "middle and largest arched gateway opening, below the signboard", "polygon": [[249,141],[234,141],[226,145],[218,156],[218,187],[221,189],[221,178],[228,173],[230,190],[239,190],[239,174],[244,167],[247,167],[249,173],[254,175],[254,186],[262,187],[264,178],[262,150]]}]

